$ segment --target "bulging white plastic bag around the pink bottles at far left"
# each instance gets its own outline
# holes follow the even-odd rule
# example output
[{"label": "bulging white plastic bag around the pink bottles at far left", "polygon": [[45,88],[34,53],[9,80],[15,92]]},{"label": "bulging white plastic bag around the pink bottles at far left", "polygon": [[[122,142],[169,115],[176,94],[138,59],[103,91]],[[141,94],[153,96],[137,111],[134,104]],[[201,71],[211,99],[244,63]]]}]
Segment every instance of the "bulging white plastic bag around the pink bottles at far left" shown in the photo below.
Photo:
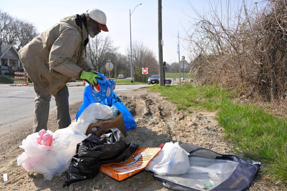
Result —
[{"label": "bulging white plastic bag around the pink bottles at far left", "polygon": [[25,152],[18,156],[17,164],[28,172],[44,175],[45,180],[51,180],[53,176],[68,170],[71,158],[76,154],[77,144],[87,136],[72,127],[59,129],[54,133],[47,132],[54,138],[51,147],[36,142],[38,133],[28,135],[19,146]]}]

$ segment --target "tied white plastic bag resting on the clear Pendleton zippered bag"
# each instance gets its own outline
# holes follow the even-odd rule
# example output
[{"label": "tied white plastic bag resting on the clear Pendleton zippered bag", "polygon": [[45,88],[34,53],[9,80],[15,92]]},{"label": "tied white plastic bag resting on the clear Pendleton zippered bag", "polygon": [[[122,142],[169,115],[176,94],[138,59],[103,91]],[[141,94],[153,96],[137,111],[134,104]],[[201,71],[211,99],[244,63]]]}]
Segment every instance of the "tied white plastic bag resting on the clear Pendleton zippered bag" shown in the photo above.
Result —
[{"label": "tied white plastic bag resting on the clear Pendleton zippered bag", "polygon": [[158,175],[184,174],[190,168],[188,155],[189,153],[182,149],[178,142],[166,143],[161,152],[146,167],[146,170]]}]

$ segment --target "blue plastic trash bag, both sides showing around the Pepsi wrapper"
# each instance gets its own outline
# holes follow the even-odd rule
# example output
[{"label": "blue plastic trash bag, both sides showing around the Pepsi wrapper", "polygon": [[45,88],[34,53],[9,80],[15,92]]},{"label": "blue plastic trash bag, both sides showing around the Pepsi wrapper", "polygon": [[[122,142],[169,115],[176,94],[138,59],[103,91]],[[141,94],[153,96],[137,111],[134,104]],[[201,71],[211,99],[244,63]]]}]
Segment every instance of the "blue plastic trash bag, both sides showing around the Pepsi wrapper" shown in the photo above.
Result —
[{"label": "blue plastic trash bag, both sides showing around the Pepsi wrapper", "polygon": [[[99,73],[100,74],[100,73]],[[115,81],[112,82],[112,90],[115,89]],[[95,93],[91,93],[91,87],[89,84],[86,84],[85,90],[84,90],[84,97],[83,97],[83,103],[81,107],[79,108],[76,119],[78,120],[81,113],[91,104],[91,103],[97,103],[93,98],[93,95],[96,95]],[[111,92],[110,96],[101,101],[100,104],[112,106],[115,105],[117,109],[123,114],[123,121],[126,127],[126,130],[134,129],[136,127],[136,122],[132,116],[132,114],[129,112],[129,110],[126,108],[126,106],[123,104],[123,102],[118,98],[117,94],[114,92]]]}]

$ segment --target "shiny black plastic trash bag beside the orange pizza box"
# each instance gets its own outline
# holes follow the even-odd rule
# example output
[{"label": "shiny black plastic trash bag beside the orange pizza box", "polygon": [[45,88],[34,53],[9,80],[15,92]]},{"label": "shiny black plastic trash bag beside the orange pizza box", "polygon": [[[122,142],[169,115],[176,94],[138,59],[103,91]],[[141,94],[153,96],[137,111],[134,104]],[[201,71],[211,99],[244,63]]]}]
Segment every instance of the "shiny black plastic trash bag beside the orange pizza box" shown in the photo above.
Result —
[{"label": "shiny black plastic trash bag beside the orange pizza box", "polygon": [[72,157],[63,187],[73,182],[94,178],[104,163],[120,162],[130,158],[138,144],[125,144],[124,136],[117,128],[108,129],[98,139],[89,134],[77,144],[76,155]]}]

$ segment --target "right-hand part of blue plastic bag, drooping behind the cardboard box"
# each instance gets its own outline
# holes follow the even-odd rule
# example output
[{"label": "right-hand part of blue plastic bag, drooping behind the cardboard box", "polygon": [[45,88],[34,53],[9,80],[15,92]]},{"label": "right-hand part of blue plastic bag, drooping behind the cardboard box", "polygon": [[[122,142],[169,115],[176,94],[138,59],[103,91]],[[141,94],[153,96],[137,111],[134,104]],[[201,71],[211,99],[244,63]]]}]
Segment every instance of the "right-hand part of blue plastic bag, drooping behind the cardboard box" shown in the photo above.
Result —
[{"label": "right-hand part of blue plastic bag, drooping behind the cardboard box", "polygon": [[112,92],[109,98],[105,99],[104,101],[101,101],[100,103],[110,107],[112,105],[115,105],[117,107],[117,109],[123,114],[123,122],[125,123],[127,131],[130,129],[134,129],[137,126],[132,114],[129,112],[129,110],[126,108],[126,106],[117,96],[117,94],[115,94],[115,92]]}]

